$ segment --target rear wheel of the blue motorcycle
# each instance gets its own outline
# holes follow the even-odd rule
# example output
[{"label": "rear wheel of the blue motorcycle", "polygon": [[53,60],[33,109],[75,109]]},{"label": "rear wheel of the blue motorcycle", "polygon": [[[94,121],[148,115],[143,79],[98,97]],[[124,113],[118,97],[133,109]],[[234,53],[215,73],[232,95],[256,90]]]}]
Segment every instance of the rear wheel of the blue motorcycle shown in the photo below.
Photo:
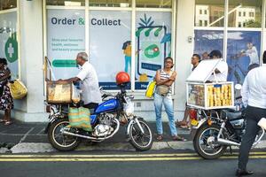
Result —
[{"label": "rear wheel of the blue motorcycle", "polygon": [[62,134],[63,128],[68,125],[67,119],[58,119],[51,123],[51,127],[48,130],[48,139],[51,146],[57,150],[74,150],[80,143],[78,137]]}]

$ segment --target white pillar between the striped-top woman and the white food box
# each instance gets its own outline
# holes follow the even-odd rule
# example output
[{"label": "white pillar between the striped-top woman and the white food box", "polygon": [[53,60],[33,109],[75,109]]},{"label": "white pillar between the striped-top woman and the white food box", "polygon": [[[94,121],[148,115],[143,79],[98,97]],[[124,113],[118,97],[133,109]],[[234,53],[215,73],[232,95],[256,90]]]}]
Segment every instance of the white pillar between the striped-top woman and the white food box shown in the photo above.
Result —
[{"label": "white pillar between the striped-top woman and the white food box", "polygon": [[194,42],[188,42],[194,37],[194,0],[178,0],[176,14],[176,96],[175,112],[178,119],[183,119],[186,102],[185,80],[191,73],[191,58]]}]

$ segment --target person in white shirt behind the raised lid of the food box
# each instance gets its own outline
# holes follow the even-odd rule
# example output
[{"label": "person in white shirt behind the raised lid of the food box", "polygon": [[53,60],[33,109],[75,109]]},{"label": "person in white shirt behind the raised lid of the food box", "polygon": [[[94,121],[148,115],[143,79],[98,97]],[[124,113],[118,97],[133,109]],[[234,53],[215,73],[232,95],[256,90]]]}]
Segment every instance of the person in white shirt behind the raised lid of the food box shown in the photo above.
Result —
[{"label": "person in white shirt behind the raised lid of the food box", "polygon": [[[209,59],[217,59],[222,58],[222,53],[220,50],[212,50],[209,54]],[[227,75],[228,75],[228,65],[226,61],[222,60],[219,62],[219,64],[216,66],[215,74],[213,73],[210,75],[210,77],[207,79],[207,81],[227,81]]]}]

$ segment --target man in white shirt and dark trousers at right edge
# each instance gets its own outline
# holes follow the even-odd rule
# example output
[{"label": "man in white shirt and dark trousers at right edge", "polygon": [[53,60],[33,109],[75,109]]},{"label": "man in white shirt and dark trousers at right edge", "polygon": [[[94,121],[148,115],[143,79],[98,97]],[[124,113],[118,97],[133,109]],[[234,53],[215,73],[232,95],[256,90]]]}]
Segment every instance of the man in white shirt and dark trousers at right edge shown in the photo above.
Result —
[{"label": "man in white shirt and dark trousers at right edge", "polygon": [[[263,63],[266,62],[266,50]],[[266,65],[256,67],[247,73],[241,90],[242,101],[246,106],[246,132],[239,149],[239,169],[236,176],[250,175],[254,172],[246,170],[248,154],[258,134],[257,123],[266,118]]]}]

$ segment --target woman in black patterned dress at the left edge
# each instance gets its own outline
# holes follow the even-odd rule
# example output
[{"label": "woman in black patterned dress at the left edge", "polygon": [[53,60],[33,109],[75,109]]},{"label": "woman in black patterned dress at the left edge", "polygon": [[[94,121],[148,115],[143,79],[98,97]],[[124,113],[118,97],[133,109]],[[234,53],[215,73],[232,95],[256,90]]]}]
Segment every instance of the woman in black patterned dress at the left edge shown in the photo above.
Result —
[{"label": "woman in black patterned dress at the left edge", "polygon": [[4,111],[4,119],[0,119],[0,122],[4,122],[5,126],[12,124],[11,110],[14,107],[11,91],[7,85],[10,78],[11,72],[7,67],[7,61],[5,58],[0,58],[0,110]]}]

